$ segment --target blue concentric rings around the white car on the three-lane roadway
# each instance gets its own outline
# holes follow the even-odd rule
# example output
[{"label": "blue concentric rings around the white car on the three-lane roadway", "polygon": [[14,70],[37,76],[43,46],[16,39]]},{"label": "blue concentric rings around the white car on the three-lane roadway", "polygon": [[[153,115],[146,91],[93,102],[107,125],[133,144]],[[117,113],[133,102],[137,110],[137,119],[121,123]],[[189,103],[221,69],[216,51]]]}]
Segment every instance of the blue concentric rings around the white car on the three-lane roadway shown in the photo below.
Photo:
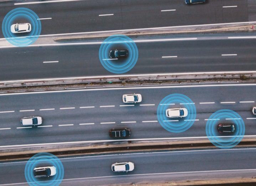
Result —
[{"label": "blue concentric rings around the white car on the three-lane roadway", "polygon": [[[188,110],[188,116],[184,118],[169,118],[165,114],[168,108],[186,108]],[[188,96],[183,94],[170,94],[157,107],[158,122],[169,132],[179,133],[188,130],[195,122],[195,118],[195,104]]]}]

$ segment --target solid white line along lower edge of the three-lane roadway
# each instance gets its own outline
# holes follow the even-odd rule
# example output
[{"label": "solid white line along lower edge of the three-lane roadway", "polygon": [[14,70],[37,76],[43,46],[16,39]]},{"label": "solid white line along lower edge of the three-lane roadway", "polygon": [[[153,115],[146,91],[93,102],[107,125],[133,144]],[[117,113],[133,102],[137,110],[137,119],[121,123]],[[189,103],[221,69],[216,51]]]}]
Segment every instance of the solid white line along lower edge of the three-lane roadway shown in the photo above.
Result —
[{"label": "solid white line along lower edge of the three-lane roadway", "polygon": [[[23,127],[22,127],[23,128]],[[214,138],[216,136],[209,136],[209,138]],[[230,136],[218,136],[219,138],[230,138]],[[255,138],[256,135],[237,135],[232,137],[244,137],[244,138]],[[75,144],[75,143],[102,143],[102,142],[125,142],[125,141],[148,141],[148,140],[180,140],[180,139],[208,139],[207,136],[200,137],[175,137],[175,138],[137,138],[137,139],[107,139],[107,140],[92,140],[92,141],[76,141],[76,142],[57,142],[57,143],[36,143],[36,144],[23,144],[23,145],[5,145],[0,146],[0,148],[9,147],[26,147],[35,145],[59,145],[59,144]]]}]

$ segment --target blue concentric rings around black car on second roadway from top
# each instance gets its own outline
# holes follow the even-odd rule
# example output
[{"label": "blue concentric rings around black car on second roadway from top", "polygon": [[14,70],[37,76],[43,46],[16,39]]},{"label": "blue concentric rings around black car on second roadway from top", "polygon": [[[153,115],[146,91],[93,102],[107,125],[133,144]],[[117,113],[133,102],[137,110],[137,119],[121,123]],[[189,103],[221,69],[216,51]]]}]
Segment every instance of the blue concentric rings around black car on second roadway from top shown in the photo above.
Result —
[{"label": "blue concentric rings around black car on second roadway from top", "polygon": [[[124,59],[112,60],[109,52],[115,49],[127,49],[128,57]],[[104,40],[99,48],[99,60],[102,66],[115,74],[128,72],[137,63],[139,56],[138,48],[134,41],[124,35],[113,35]]]}]

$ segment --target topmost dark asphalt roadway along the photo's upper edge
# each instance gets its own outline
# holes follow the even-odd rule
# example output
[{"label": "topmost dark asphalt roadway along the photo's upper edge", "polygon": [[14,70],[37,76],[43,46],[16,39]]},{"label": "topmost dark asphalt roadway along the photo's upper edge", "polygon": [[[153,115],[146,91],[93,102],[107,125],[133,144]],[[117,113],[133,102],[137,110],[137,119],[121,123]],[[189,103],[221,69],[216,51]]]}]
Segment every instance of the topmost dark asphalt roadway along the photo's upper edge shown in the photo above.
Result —
[{"label": "topmost dark asphalt roadway along the photo's upper edge", "polygon": [[[25,4],[22,4],[24,2]],[[18,7],[29,8],[39,18],[43,18],[43,35],[246,22],[255,14],[255,10],[250,8],[253,2],[247,0],[209,0],[196,6],[186,5],[184,0],[82,0],[50,3],[41,1],[39,4],[27,4],[30,2],[38,1],[1,2],[0,24],[7,12]],[[2,32],[0,33],[2,38]]]}]

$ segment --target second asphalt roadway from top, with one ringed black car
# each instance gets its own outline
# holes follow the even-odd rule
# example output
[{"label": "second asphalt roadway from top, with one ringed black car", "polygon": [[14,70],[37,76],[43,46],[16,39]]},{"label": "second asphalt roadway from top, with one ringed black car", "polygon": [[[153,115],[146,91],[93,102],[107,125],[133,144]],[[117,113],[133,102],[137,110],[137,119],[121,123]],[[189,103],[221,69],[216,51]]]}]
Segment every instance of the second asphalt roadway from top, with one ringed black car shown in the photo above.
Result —
[{"label": "second asphalt roadway from top, with one ringed black car", "polygon": [[[234,39],[234,36],[242,38]],[[126,75],[256,70],[256,37],[247,39],[247,36],[255,35],[226,33],[132,37],[139,57]],[[88,39],[82,43],[60,43],[64,46],[49,44],[1,48],[0,80],[113,75],[104,69],[99,60],[98,43],[103,41]],[[49,61],[58,63],[43,63]]]}]

